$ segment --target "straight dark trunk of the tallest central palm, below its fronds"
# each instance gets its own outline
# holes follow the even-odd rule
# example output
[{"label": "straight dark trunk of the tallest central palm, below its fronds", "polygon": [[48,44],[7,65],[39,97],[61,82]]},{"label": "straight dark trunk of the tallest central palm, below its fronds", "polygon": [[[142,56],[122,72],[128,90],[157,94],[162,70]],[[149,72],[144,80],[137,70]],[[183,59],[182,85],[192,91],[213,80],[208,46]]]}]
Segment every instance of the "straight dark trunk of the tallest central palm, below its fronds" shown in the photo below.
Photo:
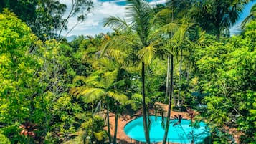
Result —
[{"label": "straight dark trunk of the tallest central palm, below its fronds", "polygon": [[146,114],[146,95],[145,95],[145,64],[141,64],[141,82],[142,82],[142,107],[143,107],[143,127],[146,138],[146,143],[150,144],[149,139],[149,129],[148,129],[148,119]]}]

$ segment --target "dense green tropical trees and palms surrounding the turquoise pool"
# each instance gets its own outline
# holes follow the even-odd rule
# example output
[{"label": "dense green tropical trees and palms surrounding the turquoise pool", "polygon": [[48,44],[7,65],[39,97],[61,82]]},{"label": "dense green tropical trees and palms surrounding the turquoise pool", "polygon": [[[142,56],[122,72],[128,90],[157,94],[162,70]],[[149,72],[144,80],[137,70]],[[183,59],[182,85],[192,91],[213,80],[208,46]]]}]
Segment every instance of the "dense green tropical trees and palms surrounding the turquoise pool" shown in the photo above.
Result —
[{"label": "dense green tropical trees and palms surrounding the turquoise pool", "polygon": [[125,18],[105,18],[113,33],[66,42],[91,1],[74,0],[67,18],[60,1],[0,1],[0,143],[121,143],[118,119],[136,112],[150,143],[157,102],[163,143],[184,117],[171,108],[204,120],[211,143],[256,143],[255,5],[228,37],[249,2],[128,0]]}]

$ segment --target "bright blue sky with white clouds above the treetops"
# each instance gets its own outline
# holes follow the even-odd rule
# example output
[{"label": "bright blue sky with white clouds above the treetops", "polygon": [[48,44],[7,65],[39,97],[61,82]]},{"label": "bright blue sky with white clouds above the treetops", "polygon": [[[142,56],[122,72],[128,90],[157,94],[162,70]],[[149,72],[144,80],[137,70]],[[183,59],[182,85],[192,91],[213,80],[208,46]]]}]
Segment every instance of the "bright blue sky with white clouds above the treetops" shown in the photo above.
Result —
[{"label": "bright blue sky with white clouds above the treetops", "polygon": [[[112,29],[108,27],[103,27],[103,20],[108,16],[119,16],[120,18],[125,17],[125,0],[92,0],[94,8],[88,14],[87,19],[82,24],[77,25],[67,36],[71,35],[91,35],[100,34],[101,32],[113,32]],[[151,5],[164,4],[166,0],[148,0]],[[72,0],[60,0],[60,2],[67,4],[69,8],[71,6]],[[250,13],[250,8],[255,2],[251,2],[246,6],[244,12],[241,14],[239,21],[230,29],[231,34],[235,34],[239,25],[243,19]],[[69,20],[67,27],[70,29],[76,23],[76,18]],[[65,35],[63,32],[62,35]]]}]

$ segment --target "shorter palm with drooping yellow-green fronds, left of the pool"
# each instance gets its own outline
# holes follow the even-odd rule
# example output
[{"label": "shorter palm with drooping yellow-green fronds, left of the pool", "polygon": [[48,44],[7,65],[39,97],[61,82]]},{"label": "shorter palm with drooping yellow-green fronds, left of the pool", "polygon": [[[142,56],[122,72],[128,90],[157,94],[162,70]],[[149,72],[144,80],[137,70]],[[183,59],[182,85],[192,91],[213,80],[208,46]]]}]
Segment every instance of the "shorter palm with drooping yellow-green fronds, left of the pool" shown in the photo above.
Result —
[{"label": "shorter palm with drooping yellow-green fronds, left of the pool", "polygon": [[112,98],[119,103],[125,103],[128,97],[115,89],[116,77],[118,76],[118,69],[110,72],[96,71],[89,77],[77,76],[74,82],[82,80],[85,85],[75,87],[70,90],[70,93],[77,96],[83,96],[83,100],[87,103],[93,103],[102,100],[107,107],[107,123],[108,123],[108,137],[110,142],[110,122],[109,122],[109,102]]}]

